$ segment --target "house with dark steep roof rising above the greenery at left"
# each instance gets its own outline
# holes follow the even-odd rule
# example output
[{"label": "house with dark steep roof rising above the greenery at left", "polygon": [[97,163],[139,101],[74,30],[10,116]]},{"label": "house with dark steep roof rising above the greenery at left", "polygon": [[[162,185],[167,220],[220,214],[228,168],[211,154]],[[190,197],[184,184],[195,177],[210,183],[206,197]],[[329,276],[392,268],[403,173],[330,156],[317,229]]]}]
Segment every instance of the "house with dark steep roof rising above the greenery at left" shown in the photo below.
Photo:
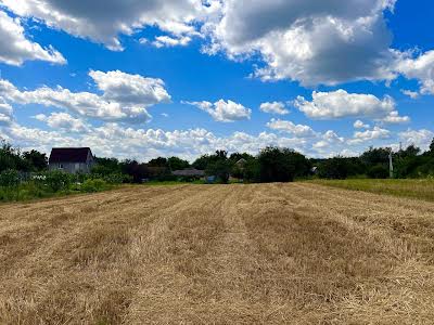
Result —
[{"label": "house with dark steep roof rising above the greenery at left", "polygon": [[89,173],[95,160],[89,147],[55,147],[48,162],[50,170]]}]

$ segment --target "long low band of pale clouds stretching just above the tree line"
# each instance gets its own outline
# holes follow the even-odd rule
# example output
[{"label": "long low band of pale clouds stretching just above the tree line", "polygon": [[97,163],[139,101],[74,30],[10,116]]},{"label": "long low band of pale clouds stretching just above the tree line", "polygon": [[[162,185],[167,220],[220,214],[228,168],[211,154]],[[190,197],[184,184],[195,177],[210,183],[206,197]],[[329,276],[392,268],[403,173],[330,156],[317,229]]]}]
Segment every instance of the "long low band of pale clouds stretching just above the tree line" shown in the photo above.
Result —
[{"label": "long low band of pale clouds stretching just above the tree line", "polygon": [[[91,146],[98,156],[136,158],[142,161],[157,156],[173,155],[193,160],[203,154],[210,154],[215,150],[226,150],[230,153],[247,152],[255,155],[260,148],[271,145],[291,147],[315,157],[354,156],[363,152],[368,145],[381,143],[379,141],[390,141],[392,138],[390,131],[379,127],[367,130],[367,132],[356,132],[354,138],[345,140],[333,130],[326,133],[315,132],[315,136],[305,136],[310,133],[306,131],[308,129],[296,126],[291,126],[291,132],[288,130],[280,133],[260,132],[258,134],[233,132],[217,136],[202,128],[165,131],[162,129],[136,129],[116,122],[101,126],[86,125],[88,128],[86,131],[73,134],[66,125],[63,125],[65,128],[56,127],[58,123],[53,116],[43,115],[39,118],[46,122],[51,119],[55,123],[53,129],[47,131],[12,121],[8,125],[0,123],[0,138],[7,139],[23,150],[37,148],[49,152],[52,146]],[[71,117],[60,119],[71,120]],[[74,121],[69,121],[69,123],[74,125]],[[408,130],[400,133],[399,136],[406,143],[408,141],[408,143],[418,145],[423,144],[422,147],[425,148],[434,138],[434,133],[427,130]],[[119,143],[123,145],[119,146]]]}]

